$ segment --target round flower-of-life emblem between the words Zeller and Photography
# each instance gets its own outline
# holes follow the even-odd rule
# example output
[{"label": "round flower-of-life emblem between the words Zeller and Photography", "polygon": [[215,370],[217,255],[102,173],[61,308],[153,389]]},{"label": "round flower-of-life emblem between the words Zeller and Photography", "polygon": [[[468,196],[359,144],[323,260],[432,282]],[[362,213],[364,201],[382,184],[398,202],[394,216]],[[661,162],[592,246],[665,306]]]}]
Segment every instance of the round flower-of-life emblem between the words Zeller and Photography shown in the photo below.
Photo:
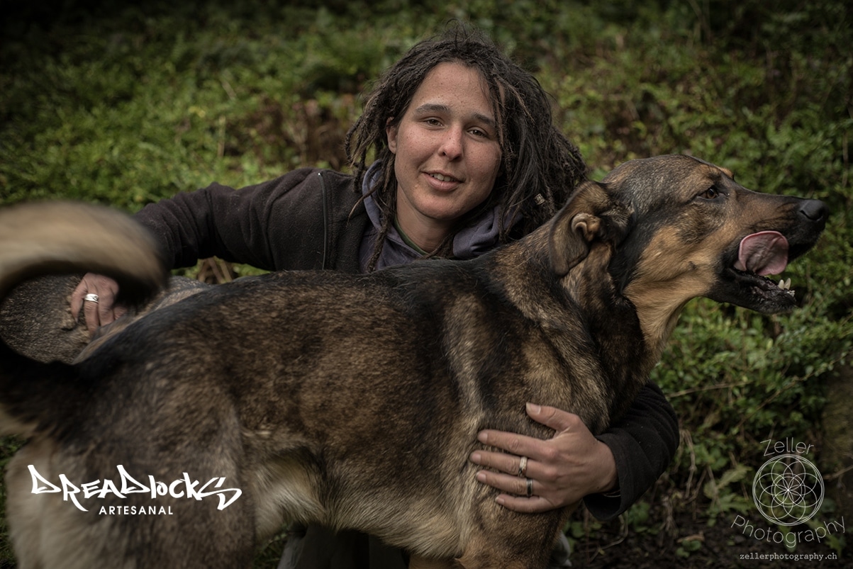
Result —
[{"label": "round flower-of-life emblem between the words Zeller and Photography", "polygon": [[752,482],[752,499],[767,520],[797,525],[821,509],[823,477],[802,456],[782,455],[765,462]]}]

